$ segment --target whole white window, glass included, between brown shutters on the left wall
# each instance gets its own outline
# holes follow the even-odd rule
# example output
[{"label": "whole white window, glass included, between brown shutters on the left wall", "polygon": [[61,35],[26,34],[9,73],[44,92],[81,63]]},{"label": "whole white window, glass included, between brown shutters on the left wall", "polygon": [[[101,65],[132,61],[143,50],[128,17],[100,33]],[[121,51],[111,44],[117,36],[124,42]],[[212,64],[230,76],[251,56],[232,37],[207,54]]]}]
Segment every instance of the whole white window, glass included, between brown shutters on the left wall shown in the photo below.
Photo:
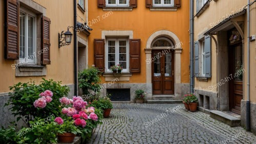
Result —
[{"label": "whole white window, glass included, between brown shutters on the left wall", "polygon": [[20,8],[19,62],[36,64],[36,15]]}]

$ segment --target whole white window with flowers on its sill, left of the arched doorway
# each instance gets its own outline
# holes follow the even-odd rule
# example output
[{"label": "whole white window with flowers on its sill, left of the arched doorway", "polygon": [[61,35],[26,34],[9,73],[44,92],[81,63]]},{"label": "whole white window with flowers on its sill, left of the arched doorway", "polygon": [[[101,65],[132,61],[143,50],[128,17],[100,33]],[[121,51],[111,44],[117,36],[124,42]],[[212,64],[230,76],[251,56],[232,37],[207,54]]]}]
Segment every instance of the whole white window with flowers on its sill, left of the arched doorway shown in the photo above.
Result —
[{"label": "whole white window with flowers on its sill, left of the arched doorway", "polygon": [[106,40],[106,72],[111,66],[120,65],[123,72],[129,71],[129,44],[127,39]]}]

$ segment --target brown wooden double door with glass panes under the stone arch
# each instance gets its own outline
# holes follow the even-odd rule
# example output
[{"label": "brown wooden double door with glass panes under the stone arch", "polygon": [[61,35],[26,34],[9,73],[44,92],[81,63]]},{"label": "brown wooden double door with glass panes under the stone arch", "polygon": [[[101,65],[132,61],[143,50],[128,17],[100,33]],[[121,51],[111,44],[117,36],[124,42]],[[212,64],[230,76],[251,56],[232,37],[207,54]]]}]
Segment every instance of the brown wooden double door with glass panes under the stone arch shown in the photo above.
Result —
[{"label": "brown wooden double door with glass panes under the stone arch", "polygon": [[152,51],[152,83],[154,95],[174,95],[174,52]]}]

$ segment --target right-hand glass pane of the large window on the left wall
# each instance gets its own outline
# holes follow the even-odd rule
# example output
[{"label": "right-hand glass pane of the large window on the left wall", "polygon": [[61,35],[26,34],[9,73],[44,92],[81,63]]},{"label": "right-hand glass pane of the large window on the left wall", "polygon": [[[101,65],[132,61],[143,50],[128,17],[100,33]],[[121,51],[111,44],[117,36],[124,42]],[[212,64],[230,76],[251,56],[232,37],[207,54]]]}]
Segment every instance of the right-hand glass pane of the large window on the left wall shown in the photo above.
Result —
[{"label": "right-hand glass pane of the large window on the left wall", "polygon": [[28,59],[34,60],[34,18],[28,17]]}]

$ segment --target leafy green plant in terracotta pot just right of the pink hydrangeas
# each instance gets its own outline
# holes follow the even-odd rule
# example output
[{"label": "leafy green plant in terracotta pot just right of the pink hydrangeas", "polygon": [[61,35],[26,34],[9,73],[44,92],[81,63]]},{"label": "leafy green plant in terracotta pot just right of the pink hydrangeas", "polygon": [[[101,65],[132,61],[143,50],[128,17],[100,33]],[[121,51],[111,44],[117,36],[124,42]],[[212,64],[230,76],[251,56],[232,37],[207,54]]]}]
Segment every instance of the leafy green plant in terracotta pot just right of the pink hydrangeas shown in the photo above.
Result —
[{"label": "leafy green plant in terracotta pot just right of the pink hydrangeas", "polygon": [[94,106],[98,109],[102,109],[104,118],[109,118],[110,117],[110,111],[113,108],[111,100],[108,96],[107,97],[100,97],[100,98],[94,100],[91,103],[91,106]]}]

